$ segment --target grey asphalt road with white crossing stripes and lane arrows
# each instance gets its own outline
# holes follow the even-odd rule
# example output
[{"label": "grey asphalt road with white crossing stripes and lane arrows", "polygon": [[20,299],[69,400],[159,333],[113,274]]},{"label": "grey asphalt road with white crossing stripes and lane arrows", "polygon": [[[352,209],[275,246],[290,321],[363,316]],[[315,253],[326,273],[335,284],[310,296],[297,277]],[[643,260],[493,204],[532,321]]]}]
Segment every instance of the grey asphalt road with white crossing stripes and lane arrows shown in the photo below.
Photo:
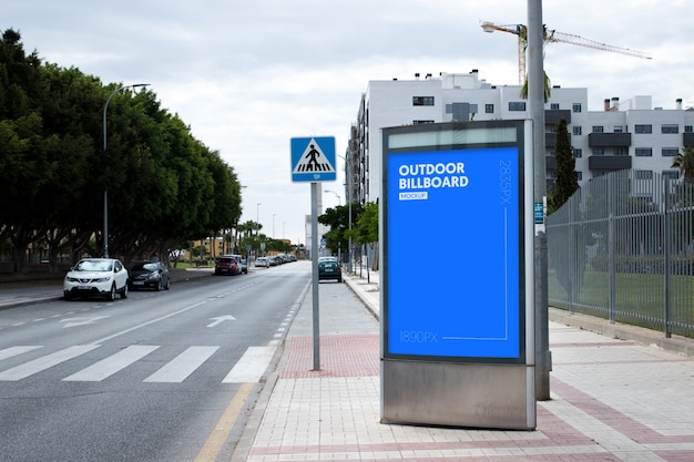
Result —
[{"label": "grey asphalt road with white crossing stripes and lane arrows", "polygon": [[0,311],[0,460],[229,460],[310,264]]}]

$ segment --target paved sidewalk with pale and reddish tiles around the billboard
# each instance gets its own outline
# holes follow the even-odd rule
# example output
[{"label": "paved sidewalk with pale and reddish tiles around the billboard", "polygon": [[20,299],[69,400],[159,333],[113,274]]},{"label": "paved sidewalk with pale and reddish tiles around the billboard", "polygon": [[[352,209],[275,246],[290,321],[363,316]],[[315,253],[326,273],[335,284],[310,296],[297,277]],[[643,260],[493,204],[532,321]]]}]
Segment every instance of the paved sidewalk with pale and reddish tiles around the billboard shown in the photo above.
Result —
[{"label": "paved sidewalk with pale and reddish tiles around the billboard", "polygon": [[[346,276],[354,295],[344,290],[343,299],[358,297],[378,314],[374,276],[371,284]],[[324,286],[320,370],[310,370],[309,291],[233,462],[694,461],[694,360],[654,346],[667,346],[662,332],[649,337],[552,309],[550,318],[561,322],[550,321],[551,400],[537,404],[537,431],[381,424],[377,319],[351,325],[364,308],[333,302],[334,288]],[[582,321],[613,333],[585,330]],[[615,338],[632,333],[636,340]]]}]

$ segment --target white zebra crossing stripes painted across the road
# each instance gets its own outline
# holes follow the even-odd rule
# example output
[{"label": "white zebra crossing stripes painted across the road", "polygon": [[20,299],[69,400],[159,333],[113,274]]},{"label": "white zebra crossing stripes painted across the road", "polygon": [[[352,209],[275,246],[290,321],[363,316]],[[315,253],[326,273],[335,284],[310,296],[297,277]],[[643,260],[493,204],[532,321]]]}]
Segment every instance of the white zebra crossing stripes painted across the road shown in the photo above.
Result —
[{"label": "white zebra crossing stripes painted across the road", "polygon": [[[0,382],[18,382],[44,372],[59,365],[78,359],[85,353],[98,350],[101,345],[75,345],[58,351],[48,352],[34,359],[4,369],[2,362],[11,358],[37,352],[44,346],[16,346],[0,350]],[[149,355],[162,348],[157,345],[131,345],[92,365],[61,379],[63,382],[100,382],[125,370],[129,366],[144,360]],[[218,346],[191,346],[165,362],[143,382],[181,383],[191,377],[220,349]],[[249,347],[242,358],[233,365],[222,383],[257,382],[267,370],[277,343],[266,347]]]}]

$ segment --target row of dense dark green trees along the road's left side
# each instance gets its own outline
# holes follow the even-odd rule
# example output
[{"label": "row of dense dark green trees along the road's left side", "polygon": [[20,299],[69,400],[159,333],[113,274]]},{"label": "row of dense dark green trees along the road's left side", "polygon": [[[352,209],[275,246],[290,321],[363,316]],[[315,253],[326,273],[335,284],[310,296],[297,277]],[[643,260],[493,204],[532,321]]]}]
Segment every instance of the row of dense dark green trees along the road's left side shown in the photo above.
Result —
[{"label": "row of dense dark green trees along the road's left side", "polygon": [[162,109],[154,92],[119,88],[43,63],[24,52],[19,32],[3,32],[0,250],[19,271],[30,249],[48,251],[51,264],[64,254],[99,255],[106,189],[110,254],[126,261],[237,226],[234,168]]}]

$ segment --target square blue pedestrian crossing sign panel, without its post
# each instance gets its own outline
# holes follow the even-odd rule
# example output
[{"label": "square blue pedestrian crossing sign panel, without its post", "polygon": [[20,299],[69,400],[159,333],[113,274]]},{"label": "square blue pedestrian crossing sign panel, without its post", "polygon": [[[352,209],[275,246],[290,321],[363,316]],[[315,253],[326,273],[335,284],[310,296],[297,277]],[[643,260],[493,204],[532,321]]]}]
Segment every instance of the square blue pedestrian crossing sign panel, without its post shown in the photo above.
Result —
[{"label": "square blue pedestrian crossing sign panel, without its post", "polygon": [[292,138],[293,182],[334,182],[336,178],[334,136]]}]

